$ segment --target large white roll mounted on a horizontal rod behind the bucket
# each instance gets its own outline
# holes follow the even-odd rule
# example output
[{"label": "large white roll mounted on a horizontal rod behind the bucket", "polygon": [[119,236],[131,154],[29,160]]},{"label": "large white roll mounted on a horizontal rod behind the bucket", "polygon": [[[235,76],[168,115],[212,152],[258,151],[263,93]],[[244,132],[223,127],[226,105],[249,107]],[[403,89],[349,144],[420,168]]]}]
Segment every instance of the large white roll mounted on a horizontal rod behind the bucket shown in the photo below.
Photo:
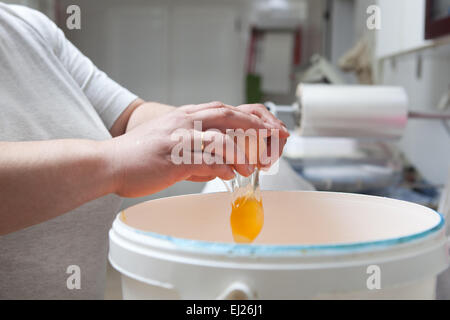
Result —
[{"label": "large white roll mounted on a horizontal rod behind the bucket", "polygon": [[300,84],[297,96],[303,136],[397,139],[408,120],[401,87]]}]

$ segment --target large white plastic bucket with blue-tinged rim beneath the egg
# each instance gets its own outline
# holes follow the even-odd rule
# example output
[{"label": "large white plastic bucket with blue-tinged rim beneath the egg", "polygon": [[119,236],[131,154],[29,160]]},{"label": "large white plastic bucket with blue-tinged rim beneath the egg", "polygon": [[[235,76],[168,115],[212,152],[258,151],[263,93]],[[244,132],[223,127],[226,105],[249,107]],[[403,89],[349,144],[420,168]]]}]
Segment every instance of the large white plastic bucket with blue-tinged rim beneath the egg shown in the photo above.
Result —
[{"label": "large white plastic bucket with blue-tinged rim beneath the egg", "polygon": [[[254,244],[235,244],[227,193],[148,201],[119,214],[109,260],[125,299],[432,299],[448,267],[443,217],[356,194],[263,192]],[[380,285],[380,286],[378,286]]]}]

